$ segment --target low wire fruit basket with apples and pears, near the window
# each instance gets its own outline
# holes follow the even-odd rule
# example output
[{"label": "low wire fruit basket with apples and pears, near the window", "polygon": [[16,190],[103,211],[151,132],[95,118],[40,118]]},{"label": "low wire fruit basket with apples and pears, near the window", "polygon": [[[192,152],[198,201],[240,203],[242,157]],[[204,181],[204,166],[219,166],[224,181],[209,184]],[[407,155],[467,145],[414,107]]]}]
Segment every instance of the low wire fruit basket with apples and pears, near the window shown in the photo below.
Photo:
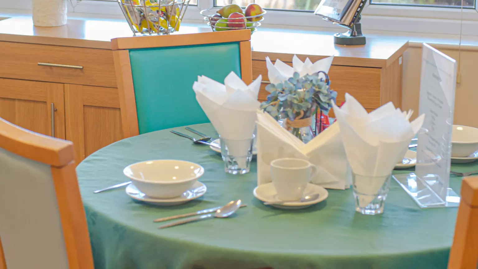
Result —
[{"label": "low wire fruit basket with apples and pears, near the window", "polygon": [[[221,7],[202,10],[200,13],[204,16],[204,21],[211,26],[212,31],[228,31],[239,29],[250,29],[251,34],[257,31],[257,27],[261,26],[264,15],[267,11],[263,10],[261,14],[241,17],[241,18],[222,18],[217,17]],[[219,15],[220,16],[220,15]]]}]

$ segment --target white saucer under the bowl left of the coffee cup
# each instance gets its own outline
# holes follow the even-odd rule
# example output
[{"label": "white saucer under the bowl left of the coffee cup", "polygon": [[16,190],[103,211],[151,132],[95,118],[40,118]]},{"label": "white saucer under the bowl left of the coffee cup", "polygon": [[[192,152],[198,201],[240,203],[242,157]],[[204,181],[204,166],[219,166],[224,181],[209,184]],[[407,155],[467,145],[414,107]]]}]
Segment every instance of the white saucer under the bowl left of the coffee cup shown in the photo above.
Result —
[{"label": "white saucer under the bowl left of the coffee cup", "polygon": [[204,185],[202,182],[196,181],[196,183],[194,183],[191,189],[185,191],[183,195],[179,197],[170,199],[159,199],[148,197],[146,194],[139,191],[136,186],[133,185],[133,183],[131,183],[130,185],[128,185],[128,187],[126,187],[126,194],[128,194],[128,196],[130,196],[134,200],[138,200],[141,202],[146,202],[153,205],[171,206],[183,204],[196,198],[199,198],[203,196],[204,193],[206,193],[206,190],[206,185]]}]

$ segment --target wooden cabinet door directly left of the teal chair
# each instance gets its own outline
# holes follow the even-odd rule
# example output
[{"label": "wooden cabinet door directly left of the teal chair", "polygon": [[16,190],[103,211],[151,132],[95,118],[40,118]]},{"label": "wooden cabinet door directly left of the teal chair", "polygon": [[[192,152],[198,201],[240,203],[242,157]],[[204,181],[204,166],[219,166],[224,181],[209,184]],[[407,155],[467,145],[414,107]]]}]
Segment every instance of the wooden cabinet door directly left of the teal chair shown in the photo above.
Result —
[{"label": "wooden cabinet door directly left of the teal chair", "polygon": [[118,89],[65,84],[66,139],[75,161],[123,138]]}]

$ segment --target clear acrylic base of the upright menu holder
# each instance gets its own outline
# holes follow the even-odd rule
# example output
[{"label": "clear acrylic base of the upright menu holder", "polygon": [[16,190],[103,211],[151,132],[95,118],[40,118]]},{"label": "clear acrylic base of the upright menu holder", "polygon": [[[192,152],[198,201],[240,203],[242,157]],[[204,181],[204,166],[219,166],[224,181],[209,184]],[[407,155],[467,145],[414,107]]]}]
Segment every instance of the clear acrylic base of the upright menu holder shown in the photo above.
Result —
[{"label": "clear acrylic base of the upright menu holder", "polygon": [[[458,207],[460,204],[460,196],[451,188],[446,190],[445,201],[432,190],[429,184],[418,178],[414,173],[394,175],[395,179],[403,190],[405,190],[413,201],[415,201],[421,208],[438,208],[438,207]],[[434,179],[426,179],[427,182]],[[445,190],[444,190],[445,191]]]}]

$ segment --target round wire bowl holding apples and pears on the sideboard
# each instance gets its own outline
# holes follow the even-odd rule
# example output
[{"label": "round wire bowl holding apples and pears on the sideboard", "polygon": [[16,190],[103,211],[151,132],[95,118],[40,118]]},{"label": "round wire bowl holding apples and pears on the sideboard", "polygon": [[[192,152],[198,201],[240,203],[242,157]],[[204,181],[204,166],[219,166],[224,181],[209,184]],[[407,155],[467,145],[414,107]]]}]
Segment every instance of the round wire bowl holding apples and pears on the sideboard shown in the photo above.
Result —
[{"label": "round wire bowl holding apples and pears on the sideboard", "polygon": [[[244,22],[228,22],[228,26],[233,26],[233,27],[228,27],[228,26],[221,26],[217,25],[216,22],[217,20],[221,18],[213,17],[217,11],[219,11],[221,7],[217,8],[211,8],[211,9],[206,9],[202,10],[200,13],[201,15],[204,16],[204,20],[207,22],[207,25],[211,26],[211,29],[215,32],[217,31],[226,31],[226,30],[239,30],[239,29],[250,29],[251,33],[254,33],[257,31],[257,27],[261,26],[261,22],[264,20],[264,15],[267,13],[267,11],[263,10],[261,14],[255,15],[255,16],[249,16],[249,17],[244,17],[242,19],[246,20],[246,23]],[[260,19],[257,19],[260,18]],[[223,18],[227,19],[227,18]],[[241,18],[234,18],[234,20],[239,20]],[[256,19],[257,21],[250,22],[249,20],[254,20]],[[236,26],[237,25],[237,26]]]}]

